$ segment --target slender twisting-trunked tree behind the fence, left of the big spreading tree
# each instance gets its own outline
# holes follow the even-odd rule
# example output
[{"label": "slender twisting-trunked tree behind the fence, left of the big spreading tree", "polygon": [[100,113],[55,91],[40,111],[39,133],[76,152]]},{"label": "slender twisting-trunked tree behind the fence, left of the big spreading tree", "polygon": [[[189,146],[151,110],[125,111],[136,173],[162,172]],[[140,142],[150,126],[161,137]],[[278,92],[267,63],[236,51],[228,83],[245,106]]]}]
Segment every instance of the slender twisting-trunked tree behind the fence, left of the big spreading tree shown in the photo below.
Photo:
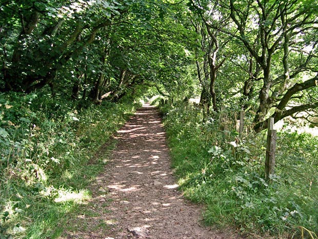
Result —
[{"label": "slender twisting-trunked tree behind the fence, left of the big spreading tree", "polygon": [[[207,102],[207,109],[209,111],[210,101],[212,100],[213,111],[217,111],[215,82],[218,69],[229,56],[226,51],[226,45],[229,39],[226,38],[226,35],[224,35],[222,31],[213,28],[212,25],[214,22],[217,22],[217,24],[221,26],[226,26],[229,17],[220,14],[222,9],[220,9],[217,3],[191,0],[190,9],[193,10],[194,13],[197,13],[192,24],[200,38],[200,40],[198,40],[198,42],[200,42],[199,51],[203,54],[203,70],[200,69],[201,64],[198,59],[196,61],[198,78],[202,84],[201,103]],[[200,53],[196,52],[197,58],[199,55]],[[203,74],[201,72],[203,72]]]}]

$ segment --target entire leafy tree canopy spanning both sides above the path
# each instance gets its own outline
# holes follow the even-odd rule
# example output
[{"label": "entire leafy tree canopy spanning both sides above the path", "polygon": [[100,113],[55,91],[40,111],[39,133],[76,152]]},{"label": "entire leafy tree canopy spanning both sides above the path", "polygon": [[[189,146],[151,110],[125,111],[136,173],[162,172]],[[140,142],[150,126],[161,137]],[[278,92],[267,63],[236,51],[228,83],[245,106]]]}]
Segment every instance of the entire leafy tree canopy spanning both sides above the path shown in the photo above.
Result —
[{"label": "entire leafy tree canopy spanning both sides above the path", "polygon": [[1,91],[100,102],[199,90],[207,113],[240,105],[256,131],[318,107],[314,1],[15,0],[0,15]]}]

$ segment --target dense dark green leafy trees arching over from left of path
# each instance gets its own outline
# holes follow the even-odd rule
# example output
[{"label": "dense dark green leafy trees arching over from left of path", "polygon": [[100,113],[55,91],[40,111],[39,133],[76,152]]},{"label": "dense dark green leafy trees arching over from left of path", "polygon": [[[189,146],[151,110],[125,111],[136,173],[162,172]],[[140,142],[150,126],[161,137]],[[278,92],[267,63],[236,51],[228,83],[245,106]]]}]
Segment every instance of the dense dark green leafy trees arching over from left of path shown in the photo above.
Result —
[{"label": "dense dark green leafy trees arching over from left of path", "polygon": [[191,64],[184,5],[14,0],[0,8],[0,91],[50,85],[73,99],[116,101],[140,86],[173,88]]}]

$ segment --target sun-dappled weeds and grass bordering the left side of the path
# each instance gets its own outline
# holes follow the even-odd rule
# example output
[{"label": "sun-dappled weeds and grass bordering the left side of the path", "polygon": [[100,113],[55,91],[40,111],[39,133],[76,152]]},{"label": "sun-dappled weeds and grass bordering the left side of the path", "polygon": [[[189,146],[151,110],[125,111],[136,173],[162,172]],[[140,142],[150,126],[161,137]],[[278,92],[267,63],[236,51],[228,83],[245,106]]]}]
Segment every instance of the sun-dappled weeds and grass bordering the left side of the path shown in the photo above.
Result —
[{"label": "sun-dappled weeds and grass bordering the left side of the path", "polygon": [[131,115],[130,102],[0,95],[1,239],[62,233],[68,213],[90,197],[86,188],[107,161],[93,156]]}]

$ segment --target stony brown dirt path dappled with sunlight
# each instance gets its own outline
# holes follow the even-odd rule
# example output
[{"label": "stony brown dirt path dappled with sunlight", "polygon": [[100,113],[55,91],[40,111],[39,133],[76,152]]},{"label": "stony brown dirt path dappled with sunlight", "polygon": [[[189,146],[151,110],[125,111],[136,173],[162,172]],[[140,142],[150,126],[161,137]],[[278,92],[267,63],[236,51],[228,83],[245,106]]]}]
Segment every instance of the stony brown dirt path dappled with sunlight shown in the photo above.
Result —
[{"label": "stony brown dirt path dappled with sunlight", "polygon": [[84,218],[86,230],[64,238],[238,238],[202,226],[202,209],[177,190],[164,127],[153,106],[139,109],[115,138],[110,162],[91,189],[96,213]]}]

